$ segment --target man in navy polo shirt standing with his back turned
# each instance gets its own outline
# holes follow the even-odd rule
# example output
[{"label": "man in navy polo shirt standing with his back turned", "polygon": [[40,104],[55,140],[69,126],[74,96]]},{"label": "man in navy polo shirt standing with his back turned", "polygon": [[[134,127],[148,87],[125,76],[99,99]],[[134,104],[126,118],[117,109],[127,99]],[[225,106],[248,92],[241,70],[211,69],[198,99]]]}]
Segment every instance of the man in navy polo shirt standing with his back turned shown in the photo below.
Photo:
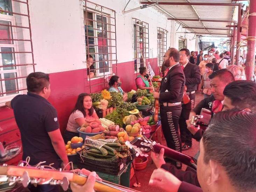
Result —
[{"label": "man in navy polo shirt standing with his back turned", "polygon": [[[21,132],[22,160],[30,157],[29,164],[51,165],[55,169],[66,165],[70,169],[56,109],[47,101],[50,96],[49,74],[30,73],[26,79],[28,93],[17,95],[6,103],[13,108],[16,123]],[[50,176],[49,176],[50,177]],[[59,191],[59,186],[29,185],[30,191]]]}]

